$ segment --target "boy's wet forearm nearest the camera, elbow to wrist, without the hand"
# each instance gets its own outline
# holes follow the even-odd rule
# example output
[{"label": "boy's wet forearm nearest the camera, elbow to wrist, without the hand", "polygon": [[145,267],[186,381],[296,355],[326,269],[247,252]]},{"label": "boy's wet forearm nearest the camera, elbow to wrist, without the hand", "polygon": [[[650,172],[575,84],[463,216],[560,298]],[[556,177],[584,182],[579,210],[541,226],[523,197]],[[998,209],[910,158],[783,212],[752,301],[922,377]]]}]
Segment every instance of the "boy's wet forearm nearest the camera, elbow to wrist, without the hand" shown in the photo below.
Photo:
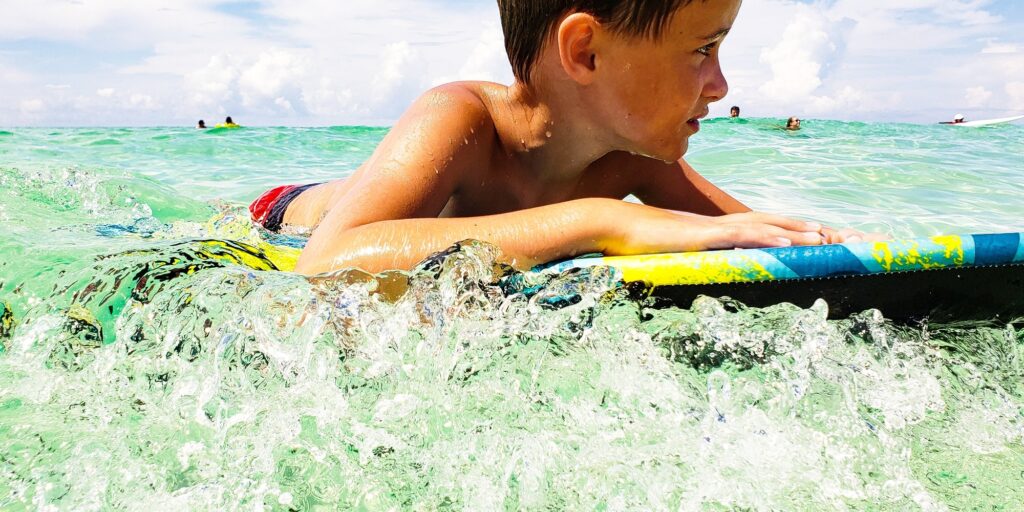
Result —
[{"label": "boy's wet forearm nearest the camera, elbow to wrist, without the hand", "polygon": [[410,269],[427,256],[470,239],[498,246],[501,261],[525,269],[600,251],[607,236],[607,223],[601,219],[615,203],[580,200],[487,217],[389,220],[335,233],[317,230],[296,271]]}]

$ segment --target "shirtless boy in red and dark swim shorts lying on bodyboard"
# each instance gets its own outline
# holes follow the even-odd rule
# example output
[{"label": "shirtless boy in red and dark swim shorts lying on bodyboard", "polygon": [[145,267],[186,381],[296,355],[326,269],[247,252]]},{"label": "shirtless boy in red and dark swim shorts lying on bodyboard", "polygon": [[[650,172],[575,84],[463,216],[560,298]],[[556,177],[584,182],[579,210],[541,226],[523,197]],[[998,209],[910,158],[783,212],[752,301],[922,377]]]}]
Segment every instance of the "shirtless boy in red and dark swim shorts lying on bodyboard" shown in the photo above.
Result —
[{"label": "shirtless boy in red and dark swim shorts lying on bodyboard", "polygon": [[728,90],[718,51],[740,2],[499,0],[512,86],[428,91],[350,178],[271,190],[254,218],[314,226],[307,274],[411,268],[467,239],[518,268],[842,241],[751,212],[682,160]]}]

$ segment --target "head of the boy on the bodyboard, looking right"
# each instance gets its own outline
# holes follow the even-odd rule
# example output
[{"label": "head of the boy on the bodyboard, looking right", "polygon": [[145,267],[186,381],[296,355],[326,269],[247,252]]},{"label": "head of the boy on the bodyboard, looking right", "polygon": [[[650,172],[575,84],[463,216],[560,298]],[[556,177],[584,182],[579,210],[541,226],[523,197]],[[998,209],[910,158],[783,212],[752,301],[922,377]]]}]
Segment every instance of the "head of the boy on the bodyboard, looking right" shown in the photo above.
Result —
[{"label": "head of the boy on the bodyboard, looking right", "polygon": [[498,0],[518,82],[560,88],[551,97],[610,150],[665,162],[682,158],[708,104],[728,91],[718,48],[740,3]]}]

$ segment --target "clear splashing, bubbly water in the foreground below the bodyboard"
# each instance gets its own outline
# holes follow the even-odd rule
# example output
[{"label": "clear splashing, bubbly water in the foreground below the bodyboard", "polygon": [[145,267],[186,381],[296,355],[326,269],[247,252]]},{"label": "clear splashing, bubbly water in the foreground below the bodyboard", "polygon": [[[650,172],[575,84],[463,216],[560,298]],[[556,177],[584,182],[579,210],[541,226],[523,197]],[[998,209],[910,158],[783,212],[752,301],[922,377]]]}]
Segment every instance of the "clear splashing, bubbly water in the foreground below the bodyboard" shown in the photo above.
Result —
[{"label": "clear splashing, bubbly water in the foreground below the bodyboard", "polygon": [[70,508],[1019,503],[1012,326],[658,305],[608,268],[518,272],[472,241],[306,279],[246,222],[157,227],[11,304],[19,503],[44,500],[30,467]]}]

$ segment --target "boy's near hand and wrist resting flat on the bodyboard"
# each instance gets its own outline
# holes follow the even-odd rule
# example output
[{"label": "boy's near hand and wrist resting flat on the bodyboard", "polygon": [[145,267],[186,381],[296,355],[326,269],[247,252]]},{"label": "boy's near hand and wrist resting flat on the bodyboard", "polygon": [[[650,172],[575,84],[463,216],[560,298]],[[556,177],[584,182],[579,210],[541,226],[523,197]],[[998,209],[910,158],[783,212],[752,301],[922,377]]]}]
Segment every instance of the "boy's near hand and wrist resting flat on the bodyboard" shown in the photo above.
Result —
[{"label": "boy's near hand and wrist resting flat on the bodyboard", "polygon": [[708,217],[621,202],[607,206],[600,213],[609,226],[600,244],[607,255],[817,246],[824,240],[820,224],[766,213]]}]

